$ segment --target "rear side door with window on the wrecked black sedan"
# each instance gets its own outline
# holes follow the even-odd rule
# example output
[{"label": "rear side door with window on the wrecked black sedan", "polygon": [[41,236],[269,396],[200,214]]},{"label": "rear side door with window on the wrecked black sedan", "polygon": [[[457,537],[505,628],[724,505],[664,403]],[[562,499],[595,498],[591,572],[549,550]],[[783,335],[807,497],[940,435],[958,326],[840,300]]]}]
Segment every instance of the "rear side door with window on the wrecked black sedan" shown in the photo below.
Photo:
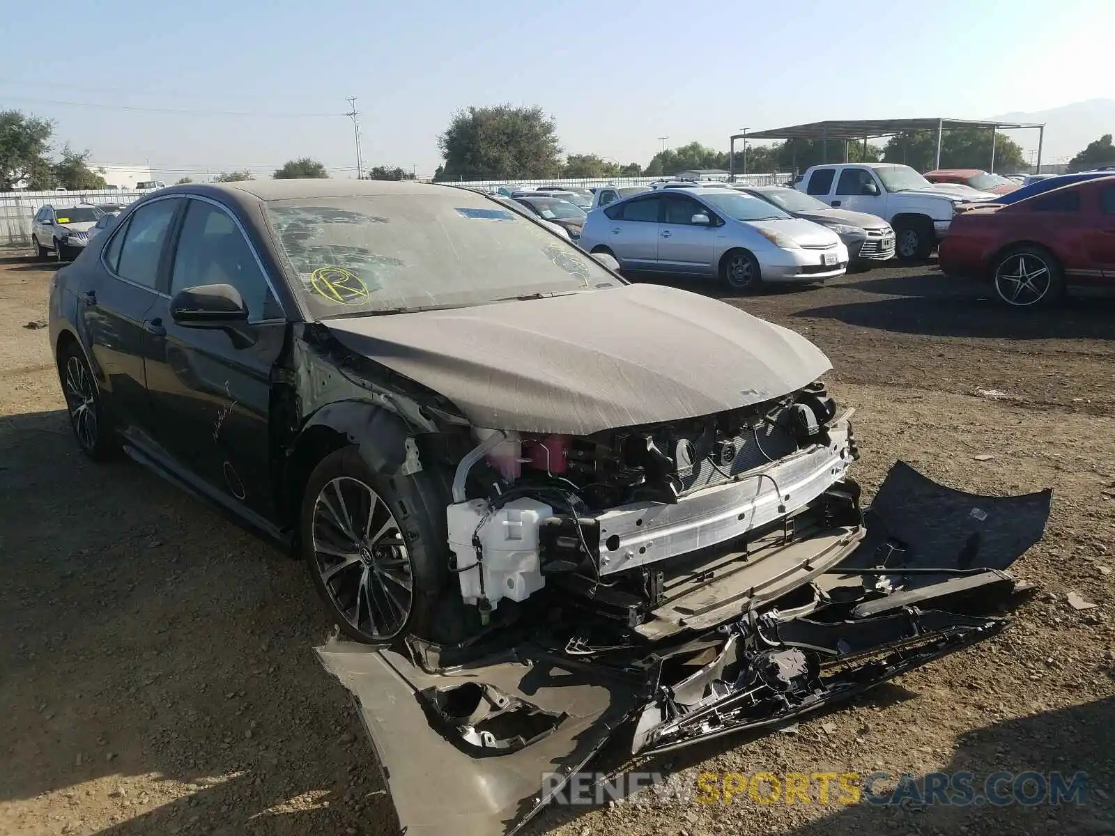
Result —
[{"label": "rear side door with window on the wrecked black sedan", "polygon": [[105,247],[106,270],[79,290],[81,324],[117,429],[126,439],[149,436],[144,356],[148,313],[159,299],[163,254],[181,198],[136,208]]}]

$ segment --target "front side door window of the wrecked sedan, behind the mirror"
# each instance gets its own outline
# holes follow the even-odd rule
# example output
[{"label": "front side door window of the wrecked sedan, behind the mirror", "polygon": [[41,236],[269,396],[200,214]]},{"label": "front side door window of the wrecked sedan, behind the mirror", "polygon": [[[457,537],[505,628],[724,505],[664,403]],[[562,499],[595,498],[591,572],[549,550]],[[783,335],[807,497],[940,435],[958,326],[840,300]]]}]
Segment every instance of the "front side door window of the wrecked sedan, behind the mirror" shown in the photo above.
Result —
[{"label": "front side door window of the wrecked sedan, behind the mirror", "polygon": [[252,321],[282,315],[259,262],[227,212],[206,201],[190,201],[171,271],[171,294],[203,284],[231,284],[240,291]]}]

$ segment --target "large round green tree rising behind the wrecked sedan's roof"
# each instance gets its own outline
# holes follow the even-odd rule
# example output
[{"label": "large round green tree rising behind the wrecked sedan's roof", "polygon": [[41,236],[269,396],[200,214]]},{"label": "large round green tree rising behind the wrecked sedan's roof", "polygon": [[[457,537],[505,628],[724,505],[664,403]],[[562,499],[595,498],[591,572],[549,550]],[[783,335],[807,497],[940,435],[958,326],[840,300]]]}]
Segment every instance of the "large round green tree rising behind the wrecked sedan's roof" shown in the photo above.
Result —
[{"label": "large round green tree rising behind the wrecked sedan's roof", "polygon": [[457,110],[437,137],[439,179],[529,179],[561,173],[556,125],[541,107]]}]

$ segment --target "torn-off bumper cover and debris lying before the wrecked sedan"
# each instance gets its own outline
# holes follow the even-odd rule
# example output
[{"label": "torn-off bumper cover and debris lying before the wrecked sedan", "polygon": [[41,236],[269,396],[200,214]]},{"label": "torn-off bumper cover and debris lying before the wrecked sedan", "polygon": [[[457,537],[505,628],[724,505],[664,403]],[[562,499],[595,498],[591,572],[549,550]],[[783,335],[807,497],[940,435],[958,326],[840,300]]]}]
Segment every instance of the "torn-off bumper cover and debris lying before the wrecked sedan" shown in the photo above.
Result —
[{"label": "torn-off bumper cover and debris lying before the wrecked sedan", "polygon": [[1050,498],[966,494],[899,463],[854,548],[710,629],[575,657],[540,622],[455,667],[418,641],[317,652],[356,699],[408,834],[512,834],[613,735],[649,754],[775,726],[1004,630],[1006,570]]}]

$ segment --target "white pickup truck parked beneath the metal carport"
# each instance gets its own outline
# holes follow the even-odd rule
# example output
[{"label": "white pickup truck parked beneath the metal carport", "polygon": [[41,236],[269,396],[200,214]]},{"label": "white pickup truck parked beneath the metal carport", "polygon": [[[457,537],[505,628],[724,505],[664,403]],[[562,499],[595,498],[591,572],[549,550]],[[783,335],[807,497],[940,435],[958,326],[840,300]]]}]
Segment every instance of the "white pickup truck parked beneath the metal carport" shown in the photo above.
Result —
[{"label": "white pickup truck parked beneath the metal carport", "polygon": [[927,259],[944,237],[957,207],[995,195],[961,195],[895,163],[815,165],[794,184],[831,206],[878,215],[894,227],[894,249],[905,261]]}]

